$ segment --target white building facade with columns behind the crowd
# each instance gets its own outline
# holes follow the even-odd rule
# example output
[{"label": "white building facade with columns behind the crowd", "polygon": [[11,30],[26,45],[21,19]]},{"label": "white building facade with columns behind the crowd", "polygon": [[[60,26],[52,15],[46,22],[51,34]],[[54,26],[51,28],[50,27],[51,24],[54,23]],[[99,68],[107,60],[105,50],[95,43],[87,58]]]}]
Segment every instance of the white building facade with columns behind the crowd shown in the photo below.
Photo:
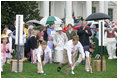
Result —
[{"label": "white building facade with columns behind the crowd", "polygon": [[92,13],[105,13],[117,21],[117,1],[39,1],[40,16],[65,18],[66,24],[74,24],[72,15],[84,19]]}]

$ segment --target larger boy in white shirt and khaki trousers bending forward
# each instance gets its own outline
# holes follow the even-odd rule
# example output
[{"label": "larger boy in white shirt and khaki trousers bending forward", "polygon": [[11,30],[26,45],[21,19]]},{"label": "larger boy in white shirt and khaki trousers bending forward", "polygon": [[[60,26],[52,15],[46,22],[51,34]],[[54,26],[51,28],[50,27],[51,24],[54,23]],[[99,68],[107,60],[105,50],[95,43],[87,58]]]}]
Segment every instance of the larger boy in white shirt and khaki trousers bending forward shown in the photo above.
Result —
[{"label": "larger boy in white shirt and khaki trousers bending forward", "polygon": [[[64,73],[69,74],[69,71],[71,70],[78,52],[80,52],[81,59],[79,61],[82,61],[85,59],[84,49],[82,44],[78,41],[78,36],[73,36],[72,40],[69,40],[64,45],[63,49],[63,60],[60,62],[57,71],[60,72],[61,69],[68,64],[69,66],[65,69]],[[79,56],[79,57],[80,57]],[[77,60],[78,61],[78,60]]]}]

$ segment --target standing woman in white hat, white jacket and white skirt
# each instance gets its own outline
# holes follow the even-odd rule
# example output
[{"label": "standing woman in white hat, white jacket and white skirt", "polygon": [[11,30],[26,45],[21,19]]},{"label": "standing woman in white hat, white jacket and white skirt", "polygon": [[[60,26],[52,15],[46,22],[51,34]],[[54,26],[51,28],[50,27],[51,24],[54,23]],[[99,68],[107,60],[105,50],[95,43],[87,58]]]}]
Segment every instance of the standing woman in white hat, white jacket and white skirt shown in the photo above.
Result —
[{"label": "standing woman in white hat, white jacket and white skirt", "polygon": [[65,43],[68,41],[68,38],[65,33],[63,33],[62,28],[58,27],[57,33],[54,35],[54,62],[61,62],[63,60],[63,49]]}]

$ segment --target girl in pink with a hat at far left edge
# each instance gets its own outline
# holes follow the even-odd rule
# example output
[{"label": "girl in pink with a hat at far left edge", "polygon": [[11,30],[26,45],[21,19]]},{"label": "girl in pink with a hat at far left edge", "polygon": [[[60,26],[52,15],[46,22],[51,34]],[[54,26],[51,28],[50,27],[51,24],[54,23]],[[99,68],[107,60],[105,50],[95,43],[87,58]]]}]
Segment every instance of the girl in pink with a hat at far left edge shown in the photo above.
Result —
[{"label": "girl in pink with a hat at far left edge", "polygon": [[8,43],[8,36],[5,34],[1,35],[1,71],[3,72],[3,65],[6,62],[6,53],[12,53],[13,50],[10,49],[10,44]]}]

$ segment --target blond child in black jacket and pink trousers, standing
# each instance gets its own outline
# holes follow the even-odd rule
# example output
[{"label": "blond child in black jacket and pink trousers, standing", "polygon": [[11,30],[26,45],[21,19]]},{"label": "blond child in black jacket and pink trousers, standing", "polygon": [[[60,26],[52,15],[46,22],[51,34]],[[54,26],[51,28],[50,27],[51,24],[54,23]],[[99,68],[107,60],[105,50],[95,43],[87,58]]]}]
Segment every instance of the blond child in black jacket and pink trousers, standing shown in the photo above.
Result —
[{"label": "blond child in black jacket and pink trousers, standing", "polygon": [[36,48],[37,48],[37,31],[33,30],[30,38],[30,48],[31,48],[31,63],[36,63]]}]

